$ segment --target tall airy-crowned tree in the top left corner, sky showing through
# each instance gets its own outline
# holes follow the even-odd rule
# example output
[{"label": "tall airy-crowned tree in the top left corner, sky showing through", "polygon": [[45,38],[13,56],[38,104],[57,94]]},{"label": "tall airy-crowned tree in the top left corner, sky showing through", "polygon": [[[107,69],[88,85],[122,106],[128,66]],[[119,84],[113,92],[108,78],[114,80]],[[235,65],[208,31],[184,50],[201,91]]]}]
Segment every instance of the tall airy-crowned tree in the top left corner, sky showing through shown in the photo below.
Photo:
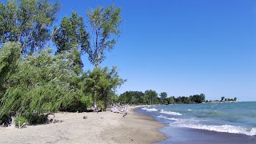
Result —
[{"label": "tall airy-crowned tree in the top left corner, sky showing through", "polygon": [[8,0],[0,4],[0,45],[19,42],[23,54],[38,54],[50,40],[60,5],[48,0]]}]

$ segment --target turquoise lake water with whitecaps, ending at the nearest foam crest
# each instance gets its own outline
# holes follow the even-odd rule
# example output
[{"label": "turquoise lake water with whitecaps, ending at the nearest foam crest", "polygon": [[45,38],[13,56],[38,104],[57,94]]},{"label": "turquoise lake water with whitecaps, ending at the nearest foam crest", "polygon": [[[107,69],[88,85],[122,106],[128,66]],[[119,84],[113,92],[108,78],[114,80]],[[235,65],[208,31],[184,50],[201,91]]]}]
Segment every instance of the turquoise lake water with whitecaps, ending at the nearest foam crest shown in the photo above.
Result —
[{"label": "turquoise lake water with whitecaps, ending at the nearest foam crest", "polygon": [[149,106],[142,113],[175,127],[256,135],[256,102]]}]

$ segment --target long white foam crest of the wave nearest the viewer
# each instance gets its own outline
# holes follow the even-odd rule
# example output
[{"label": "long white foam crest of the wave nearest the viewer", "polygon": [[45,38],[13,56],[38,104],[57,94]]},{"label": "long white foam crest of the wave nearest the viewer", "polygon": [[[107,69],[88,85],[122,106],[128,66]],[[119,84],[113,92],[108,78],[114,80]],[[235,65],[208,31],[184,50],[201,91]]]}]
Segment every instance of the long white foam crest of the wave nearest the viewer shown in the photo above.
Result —
[{"label": "long white foam crest of the wave nearest the viewer", "polygon": [[211,131],[232,133],[232,134],[246,134],[249,136],[256,135],[256,128],[248,129],[248,128],[242,127],[242,126],[202,125],[202,124],[188,123],[188,122],[184,122],[184,121],[171,122],[170,126],[186,127],[186,128],[192,128],[192,129],[198,129],[198,130],[211,130]]}]

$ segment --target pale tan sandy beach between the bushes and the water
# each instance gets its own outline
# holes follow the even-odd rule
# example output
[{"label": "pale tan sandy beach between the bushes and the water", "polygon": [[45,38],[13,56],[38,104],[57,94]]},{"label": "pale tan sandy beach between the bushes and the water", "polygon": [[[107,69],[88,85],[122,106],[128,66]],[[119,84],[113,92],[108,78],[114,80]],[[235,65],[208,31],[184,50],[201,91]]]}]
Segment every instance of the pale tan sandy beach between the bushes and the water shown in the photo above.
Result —
[{"label": "pale tan sandy beach between the bushes and the water", "polygon": [[0,127],[0,143],[152,143],[165,139],[158,132],[163,124],[133,110],[126,118],[106,111],[58,113],[55,119],[64,122],[24,129]]}]

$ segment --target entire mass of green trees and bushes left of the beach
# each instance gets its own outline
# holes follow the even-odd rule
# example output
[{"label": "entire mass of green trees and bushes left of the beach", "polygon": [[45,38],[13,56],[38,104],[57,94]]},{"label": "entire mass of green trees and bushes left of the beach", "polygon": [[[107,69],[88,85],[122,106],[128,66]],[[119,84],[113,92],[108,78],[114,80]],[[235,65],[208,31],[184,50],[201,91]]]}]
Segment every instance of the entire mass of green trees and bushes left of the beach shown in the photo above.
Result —
[{"label": "entire mass of green trees and bushes left of the beach", "polygon": [[[58,2],[48,0],[0,3],[1,124],[11,117],[16,117],[16,126],[45,123],[47,113],[85,111],[96,103],[106,110],[118,101],[115,88],[126,80],[119,78],[116,67],[99,64],[120,33],[120,8],[89,10],[90,26],[73,12],[53,27],[59,9]],[[48,48],[50,42],[56,54]],[[94,70],[83,70],[82,54],[89,55]]]}]

